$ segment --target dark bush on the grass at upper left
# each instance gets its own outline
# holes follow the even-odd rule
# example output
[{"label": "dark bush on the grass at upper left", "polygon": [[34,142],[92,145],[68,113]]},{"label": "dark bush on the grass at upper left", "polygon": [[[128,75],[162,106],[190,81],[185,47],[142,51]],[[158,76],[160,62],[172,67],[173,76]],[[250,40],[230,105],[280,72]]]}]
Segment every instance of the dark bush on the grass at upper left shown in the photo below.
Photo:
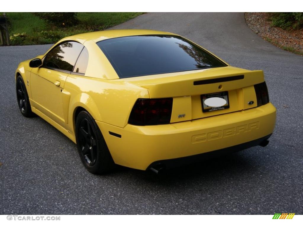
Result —
[{"label": "dark bush on the grass at upper left", "polygon": [[72,27],[78,24],[77,15],[74,12],[68,13],[33,13],[45,22],[57,27]]}]

